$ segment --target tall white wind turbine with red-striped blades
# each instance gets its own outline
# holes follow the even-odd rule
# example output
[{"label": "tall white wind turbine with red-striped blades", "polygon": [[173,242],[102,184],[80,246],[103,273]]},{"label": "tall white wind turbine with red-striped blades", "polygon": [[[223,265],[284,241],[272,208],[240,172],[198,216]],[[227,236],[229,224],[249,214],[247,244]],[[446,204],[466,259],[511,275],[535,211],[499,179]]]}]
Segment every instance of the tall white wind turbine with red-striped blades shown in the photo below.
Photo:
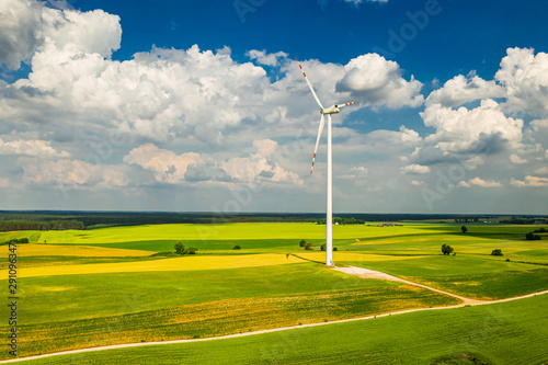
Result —
[{"label": "tall white wind turbine with red-striped blades", "polygon": [[351,103],[345,103],[345,104],[333,104],[328,109],[324,109],[321,105],[320,99],[313,91],[312,84],[310,81],[308,81],[307,75],[305,73],[305,70],[302,69],[302,66],[300,66],[299,60],[297,59],[297,64],[299,64],[300,71],[302,72],[302,76],[305,77],[305,80],[307,80],[308,87],[310,88],[310,91],[312,92],[313,99],[316,99],[316,102],[320,106],[320,127],[318,129],[318,137],[316,138],[316,147],[313,149],[313,157],[312,157],[312,167],[310,168],[310,174],[312,174],[313,170],[313,162],[316,160],[316,152],[318,151],[318,145],[320,142],[320,137],[321,133],[323,132],[323,124],[324,124],[324,115],[328,116],[328,204],[327,204],[327,214],[326,214],[326,265],[327,266],[334,266],[333,263],[333,169],[332,169],[332,161],[331,161],[331,114],[338,114],[340,112],[340,109],[343,106],[349,106],[352,104],[355,104],[356,102],[351,102]]}]

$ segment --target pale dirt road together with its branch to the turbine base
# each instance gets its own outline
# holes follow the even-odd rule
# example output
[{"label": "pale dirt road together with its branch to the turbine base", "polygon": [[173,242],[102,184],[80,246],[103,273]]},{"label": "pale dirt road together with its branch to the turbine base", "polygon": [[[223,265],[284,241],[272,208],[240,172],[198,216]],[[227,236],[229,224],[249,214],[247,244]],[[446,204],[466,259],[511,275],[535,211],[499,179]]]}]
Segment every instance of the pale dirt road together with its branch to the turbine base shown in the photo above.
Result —
[{"label": "pale dirt road together with its branch to the turbine base", "polygon": [[528,295],[523,295],[520,297],[513,297],[513,298],[506,298],[506,299],[499,299],[499,300],[476,300],[476,299],[470,299],[470,298],[465,298],[448,292],[439,290],[426,285],[413,283],[410,281],[406,281],[403,278],[399,278],[379,271],[374,271],[374,270],[368,270],[368,269],[363,269],[363,267],[356,267],[356,266],[346,266],[346,267],[333,267],[333,270],[339,271],[341,273],[354,275],[357,277],[362,278],[376,278],[376,280],[387,280],[387,281],[393,281],[393,282],[401,282],[406,283],[409,285],[414,285],[414,286],[420,286],[433,292],[437,292],[444,295],[448,295],[455,298],[458,298],[463,300],[461,304],[455,305],[455,306],[447,306],[447,307],[434,307],[434,308],[416,308],[416,309],[407,309],[407,310],[399,310],[395,312],[388,312],[388,313],[383,313],[383,315],[372,315],[367,317],[358,317],[358,318],[350,318],[350,319],[341,319],[336,321],[330,321],[330,322],[320,322],[320,323],[310,323],[310,324],[301,324],[301,326],[290,326],[290,327],[282,327],[282,328],[275,328],[275,329],[270,329],[270,330],[261,330],[261,331],[254,331],[254,332],[246,332],[246,333],[236,333],[236,334],[228,334],[228,335],[222,335],[222,337],[217,337],[217,338],[207,338],[207,339],[191,339],[191,340],[173,340],[173,341],[161,341],[161,342],[137,342],[137,343],[125,343],[125,344],[118,344],[118,345],[110,345],[110,346],[99,346],[99,347],[90,347],[90,349],[80,349],[80,350],[70,350],[70,351],[62,351],[62,352],[56,352],[52,354],[44,354],[44,355],[37,355],[37,356],[28,356],[28,357],[22,357],[22,358],[12,358],[12,360],[4,360],[0,361],[0,364],[9,364],[9,363],[18,363],[18,362],[24,362],[24,361],[30,361],[30,360],[38,360],[38,358],[46,358],[46,357],[53,357],[53,356],[60,356],[60,355],[70,355],[70,354],[81,354],[85,352],[95,352],[95,351],[105,351],[105,350],[115,350],[115,349],[127,349],[127,347],[138,347],[138,346],[150,346],[150,345],[163,345],[163,344],[175,344],[175,343],[191,343],[191,342],[204,342],[204,341],[216,341],[216,340],[226,340],[226,339],[236,339],[236,338],[244,338],[248,335],[255,335],[255,334],[262,334],[262,333],[271,333],[271,332],[279,332],[279,331],[286,331],[286,330],[294,330],[294,329],[299,329],[299,328],[307,328],[307,327],[318,327],[318,326],[328,326],[328,324],[333,324],[333,323],[344,323],[344,322],[353,322],[353,321],[361,321],[365,319],[373,319],[373,318],[380,318],[380,317],[388,317],[388,316],[393,316],[393,315],[403,315],[403,313],[410,313],[414,311],[423,311],[423,310],[441,310],[441,309],[453,309],[453,308],[461,308],[465,306],[481,306],[481,305],[489,305],[489,304],[495,304],[495,303],[504,303],[504,301],[512,301],[512,300],[517,300],[517,299],[524,299],[524,298],[529,298],[534,297],[537,295],[544,295],[548,294],[548,290],[544,292],[538,292],[538,293],[533,293]]}]

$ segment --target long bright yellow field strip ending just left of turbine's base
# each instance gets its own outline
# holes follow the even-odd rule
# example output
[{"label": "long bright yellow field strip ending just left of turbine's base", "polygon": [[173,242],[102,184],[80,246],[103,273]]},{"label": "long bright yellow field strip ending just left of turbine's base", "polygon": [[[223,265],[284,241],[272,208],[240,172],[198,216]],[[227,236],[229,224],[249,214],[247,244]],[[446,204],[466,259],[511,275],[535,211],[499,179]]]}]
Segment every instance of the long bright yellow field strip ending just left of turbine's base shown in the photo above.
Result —
[{"label": "long bright yellow field strip ending just left of turbine's base", "polygon": [[47,267],[21,269],[19,277],[50,276],[50,275],[79,275],[101,273],[127,273],[152,271],[192,271],[272,266],[282,264],[300,263],[302,260],[286,256],[285,254],[265,253],[250,255],[219,255],[219,256],[184,256],[139,262],[117,262],[83,265],[65,265]]}]

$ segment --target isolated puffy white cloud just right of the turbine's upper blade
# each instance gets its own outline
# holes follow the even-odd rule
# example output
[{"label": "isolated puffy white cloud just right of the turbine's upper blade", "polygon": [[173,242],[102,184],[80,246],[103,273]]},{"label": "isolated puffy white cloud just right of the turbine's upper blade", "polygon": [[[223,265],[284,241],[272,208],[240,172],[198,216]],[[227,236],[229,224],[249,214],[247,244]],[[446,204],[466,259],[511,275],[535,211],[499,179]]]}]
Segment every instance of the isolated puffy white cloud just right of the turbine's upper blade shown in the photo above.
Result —
[{"label": "isolated puffy white cloud just right of the turbine's upper blade", "polygon": [[345,75],[336,83],[338,92],[350,92],[352,98],[366,106],[400,109],[418,107],[424,96],[420,94],[422,83],[411,76],[407,81],[403,70],[395,61],[377,54],[367,54],[352,59],[344,66]]}]

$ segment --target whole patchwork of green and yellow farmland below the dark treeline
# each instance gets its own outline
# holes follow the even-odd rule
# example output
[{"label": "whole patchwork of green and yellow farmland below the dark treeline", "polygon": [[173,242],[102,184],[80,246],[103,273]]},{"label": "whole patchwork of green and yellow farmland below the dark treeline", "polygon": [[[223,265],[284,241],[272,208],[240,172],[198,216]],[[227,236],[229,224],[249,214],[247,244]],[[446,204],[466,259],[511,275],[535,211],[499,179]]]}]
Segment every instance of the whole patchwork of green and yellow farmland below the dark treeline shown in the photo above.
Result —
[{"label": "whole patchwork of green and yellow farmland below the dark treeline", "polygon": [[[23,242],[16,244],[18,356],[137,344],[25,364],[548,361],[547,225],[333,226],[339,269],[401,282],[326,266],[321,221],[244,220],[253,219],[0,232],[0,242]],[[538,295],[502,300],[530,294]],[[397,313],[410,309],[424,310]],[[368,319],[352,320],[359,318]],[[294,329],[254,334],[285,328]],[[189,341],[161,344],[174,340]],[[9,360],[5,341],[2,347]]]}]

